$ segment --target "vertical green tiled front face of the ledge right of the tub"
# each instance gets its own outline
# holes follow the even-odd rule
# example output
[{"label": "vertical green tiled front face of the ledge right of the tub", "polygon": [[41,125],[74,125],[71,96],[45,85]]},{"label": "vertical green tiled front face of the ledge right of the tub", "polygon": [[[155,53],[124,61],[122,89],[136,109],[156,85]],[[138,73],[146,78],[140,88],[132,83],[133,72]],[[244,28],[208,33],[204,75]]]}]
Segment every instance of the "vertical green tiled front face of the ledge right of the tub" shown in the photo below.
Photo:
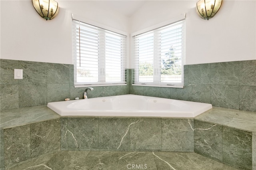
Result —
[{"label": "vertical green tiled front face of the ledge right of the tub", "polygon": [[194,152],[239,169],[255,169],[254,137],[245,130],[194,120]]}]

